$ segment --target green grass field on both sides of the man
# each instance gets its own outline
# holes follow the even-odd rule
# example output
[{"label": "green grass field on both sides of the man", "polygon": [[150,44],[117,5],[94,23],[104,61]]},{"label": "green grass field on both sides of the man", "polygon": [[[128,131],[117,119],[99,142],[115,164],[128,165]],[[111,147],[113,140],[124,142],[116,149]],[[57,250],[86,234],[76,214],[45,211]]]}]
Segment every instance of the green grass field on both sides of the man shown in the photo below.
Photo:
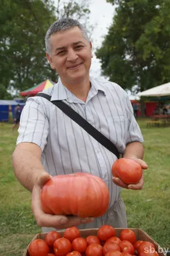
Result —
[{"label": "green grass field on both sides of the man", "polygon": [[[121,192],[127,206],[128,227],[146,231],[160,246],[170,250],[170,128],[146,128],[139,120],[144,136],[144,173],[141,191]],[[40,232],[30,209],[31,195],[13,175],[12,152],[17,131],[12,124],[0,124],[0,255],[19,256],[33,236]]]}]

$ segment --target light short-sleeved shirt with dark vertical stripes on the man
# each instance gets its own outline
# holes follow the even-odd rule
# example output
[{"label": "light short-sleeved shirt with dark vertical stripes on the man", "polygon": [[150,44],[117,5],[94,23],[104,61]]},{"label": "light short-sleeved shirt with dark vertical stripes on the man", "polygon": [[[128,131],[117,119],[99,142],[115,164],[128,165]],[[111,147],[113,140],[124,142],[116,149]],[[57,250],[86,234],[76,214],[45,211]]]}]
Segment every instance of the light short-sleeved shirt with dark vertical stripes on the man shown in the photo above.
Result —
[{"label": "light short-sleeved shirt with dark vertical stripes on the man", "polygon": [[[143,142],[127,93],[118,84],[90,77],[86,102],[78,99],[59,79],[44,90],[51,100],[63,100],[116,145],[120,153],[127,143]],[[50,175],[88,172],[105,181],[110,207],[121,188],[112,182],[111,166],[116,156],[91,137],[59,108],[42,97],[27,99],[20,119],[17,144],[36,143],[42,149],[42,164]]]}]

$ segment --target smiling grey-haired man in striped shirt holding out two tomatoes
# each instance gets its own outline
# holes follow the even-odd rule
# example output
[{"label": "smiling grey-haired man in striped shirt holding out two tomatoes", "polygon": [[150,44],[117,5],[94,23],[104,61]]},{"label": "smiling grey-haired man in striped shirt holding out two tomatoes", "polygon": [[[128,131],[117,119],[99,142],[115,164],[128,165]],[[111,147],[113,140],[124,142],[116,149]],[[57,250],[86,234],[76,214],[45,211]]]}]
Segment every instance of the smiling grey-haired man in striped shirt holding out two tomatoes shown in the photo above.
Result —
[{"label": "smiling grey-haired man in striped shirt holding out two tomatoes", "polygon": [[[49,90],[51,100],[63,100],[118,148],[123,157],[135,159],[143,169],[143,137],[135,122],[127,93],[118,84],[89,77],[92,45],[84,27],[73,19],[52,24],[45,36],[47,59],[59,81]],[[109,150],[84,131],[59,108],[42,97],[30,97],[22,112],[13,168],[20,183],[32,193],[31,209],[43,232],[71,226],[100,227],[104,223],[127,227],[121,188],[141,189],[138,184],[112,180],[116,161]],[[111,196],[109,210],[100,218],[45,214],[40,203],[41,188],[51,176],[90,172],[105,181]],[[49,228],[48,228],[49,227]]]}]

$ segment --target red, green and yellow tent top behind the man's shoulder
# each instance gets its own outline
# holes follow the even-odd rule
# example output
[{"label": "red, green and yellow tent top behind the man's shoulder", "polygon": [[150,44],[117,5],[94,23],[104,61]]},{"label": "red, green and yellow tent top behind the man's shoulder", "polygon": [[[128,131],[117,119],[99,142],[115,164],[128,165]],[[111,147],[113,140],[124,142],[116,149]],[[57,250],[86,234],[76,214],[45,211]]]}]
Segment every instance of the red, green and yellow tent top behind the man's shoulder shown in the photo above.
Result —
[{"label": "red, green and yellow tent top behind the man's shoulder", "polygon": [[47,79],[40,84],[37,84],[23,92],[20,92],[20,95],[23,97],[35,96],[38,92],[42,92],[42,90],[48,89],[48,88],[52,87],[54,84],[55,84],[54,82]]}]

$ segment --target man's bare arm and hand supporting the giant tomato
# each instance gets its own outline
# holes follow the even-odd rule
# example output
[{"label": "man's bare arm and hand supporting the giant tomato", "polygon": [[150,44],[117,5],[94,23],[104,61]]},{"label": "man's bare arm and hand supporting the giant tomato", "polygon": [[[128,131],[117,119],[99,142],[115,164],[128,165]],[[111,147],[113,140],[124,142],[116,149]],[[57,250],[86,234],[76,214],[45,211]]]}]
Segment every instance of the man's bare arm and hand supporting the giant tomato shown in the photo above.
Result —
[{"label": "man's bare arm and hand supporting the giant tomato", "polygon": [[15,176],[22,186],[32,192],[31,209],[38,226],[63,229],[93,221],[93,218],[66,217],[42,211],[41,189],[50,175],[43,168],[41,154],[41,148],[35,143],[19,143],[12,155]]}]

